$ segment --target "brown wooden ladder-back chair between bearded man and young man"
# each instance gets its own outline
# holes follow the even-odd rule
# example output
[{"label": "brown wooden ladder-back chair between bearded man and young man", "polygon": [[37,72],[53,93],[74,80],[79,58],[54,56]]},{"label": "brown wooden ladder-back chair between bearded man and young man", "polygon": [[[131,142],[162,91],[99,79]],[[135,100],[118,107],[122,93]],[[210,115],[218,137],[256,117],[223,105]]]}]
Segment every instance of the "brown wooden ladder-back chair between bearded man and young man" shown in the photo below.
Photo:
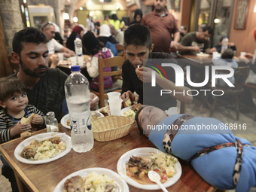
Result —
[{"label": "brown wooden ladder-back chair between bearded man and young man", "polygon": [[91,92],[95,93],[97,96],[99,96],[99,108],[102,108],[105,106],[105,99],[108,98],[107,93],[116,91],[121,93],[122,86],[118,84],[114,84],[110,87],[105,89],[104,88],[104,77],[105,76],[116,76],[122,74],[122,68],[118,68],[118,70],[111,71],[111,72],[103,72],[103,68],[105,67],[118,67],[122,66],[123,62],[125,61],[124,56],[114,56],[107,59],[102,59],[101,54],[99,53],[99,90],[91,90]]}]

